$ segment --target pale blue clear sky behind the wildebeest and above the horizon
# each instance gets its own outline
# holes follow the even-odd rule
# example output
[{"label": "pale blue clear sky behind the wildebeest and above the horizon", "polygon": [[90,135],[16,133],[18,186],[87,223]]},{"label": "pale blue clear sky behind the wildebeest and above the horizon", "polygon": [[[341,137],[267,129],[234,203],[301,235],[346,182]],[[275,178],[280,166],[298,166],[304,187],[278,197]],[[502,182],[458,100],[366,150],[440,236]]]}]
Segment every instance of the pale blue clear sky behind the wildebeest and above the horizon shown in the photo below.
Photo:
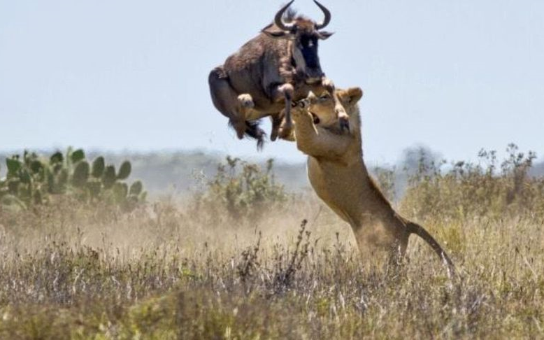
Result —
[{"label": "pale blue clear sky behind the wildebeest and above the horizon", "polygon": [[[369,162],[424,143],[544,153],[544,1],[322,0],[320,45],[339,87],[358,85]],[[215,111],[207,77],[282,1],[0,0],[0,150],[206,148],[256,155]],[[310,0],[294,7],[322,13]],[[269,127],[266,127],[269,132]],[[262,157],[303,160],[294,144]]]}]

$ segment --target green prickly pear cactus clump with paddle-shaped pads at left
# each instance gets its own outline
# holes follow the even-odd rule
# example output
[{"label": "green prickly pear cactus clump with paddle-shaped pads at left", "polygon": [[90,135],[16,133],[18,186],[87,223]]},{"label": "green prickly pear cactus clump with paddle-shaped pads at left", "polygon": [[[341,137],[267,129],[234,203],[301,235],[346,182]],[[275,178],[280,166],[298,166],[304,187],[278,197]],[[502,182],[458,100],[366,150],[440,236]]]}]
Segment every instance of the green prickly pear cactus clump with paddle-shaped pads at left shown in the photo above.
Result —
[{"label": "green prickly pear cactus clump with paddle-shaped pads at left", "polygon": [[81,149],[69,148],[50,157],[24,151],[22,157],[6,159],[6,178],[0,178],[0,205],[26,209],[48,204],[55,195],[70,195],[83,203],[107,201],[124,210],[134,209],[145,201],[143,185],[138,180],[124,183],[131,173],[131,163],[121,164],[119,172],[104,157],[91,163]]}]

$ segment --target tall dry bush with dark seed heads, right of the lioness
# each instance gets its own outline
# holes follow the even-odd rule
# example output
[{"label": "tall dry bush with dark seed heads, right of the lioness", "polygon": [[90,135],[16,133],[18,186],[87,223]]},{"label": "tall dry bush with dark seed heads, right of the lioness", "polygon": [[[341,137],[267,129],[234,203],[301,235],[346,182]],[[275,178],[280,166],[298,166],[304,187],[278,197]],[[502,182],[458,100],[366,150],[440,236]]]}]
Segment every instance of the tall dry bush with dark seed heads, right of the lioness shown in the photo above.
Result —
[{"label": "tall dry bush with dark seed heads, right of the lioness", "polygon": [[499,164],[495,151],[480,150],[479,162],[445,162],[420,158],[410,176],[401,210],[417,220],[458,221],[472,218],[544,217],[544,178],[528,176],[535,153],[520,153],[510,144]]}]

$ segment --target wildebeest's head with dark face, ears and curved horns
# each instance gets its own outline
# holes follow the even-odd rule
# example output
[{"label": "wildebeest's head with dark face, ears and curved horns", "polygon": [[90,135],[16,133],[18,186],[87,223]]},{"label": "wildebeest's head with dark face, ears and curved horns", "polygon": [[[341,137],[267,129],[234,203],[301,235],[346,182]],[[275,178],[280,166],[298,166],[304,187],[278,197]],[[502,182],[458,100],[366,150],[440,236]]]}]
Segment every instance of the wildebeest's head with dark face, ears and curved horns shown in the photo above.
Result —
[{"label": "wildebeest's head with dark face, ears and curved horns", "polygon": [[289,21],[285,22],[284,13],[293,1],[289,1],[276,13],[274,18],[276,27],[272,27],[273,25],[270,24],[262,31],[272,38],[292,41],[291,52],[296,64],[296,71],[302,73],[308,83],[313,83],[324,76],[321,70],[320,58],[317,55],[317,44],[318,41],[325,40],[332,35],[327,31],[320,31],[331,21],[331,13],[325,6],[314,0],[325,15],[323,22],[317,23],[301,16],[294,17],[294,13],[287,13]]}]

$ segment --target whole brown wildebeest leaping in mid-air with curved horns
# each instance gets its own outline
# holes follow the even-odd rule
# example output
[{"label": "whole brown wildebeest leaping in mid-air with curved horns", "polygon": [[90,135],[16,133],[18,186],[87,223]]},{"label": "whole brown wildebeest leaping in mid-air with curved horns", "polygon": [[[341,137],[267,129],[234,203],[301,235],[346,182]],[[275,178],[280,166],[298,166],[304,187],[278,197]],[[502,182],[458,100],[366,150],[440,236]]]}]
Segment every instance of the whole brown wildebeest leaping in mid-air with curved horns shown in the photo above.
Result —
[{"label": "whole brown wildebeest leaping in mid-air with curved horns", "polygon": [[272,24],[208,76],[215,108],[229,118],[239,139],[244,135],[255,138],[259,148],[265,136],[259,119],[271,116],[272,141],[278,134],[289,136],[292,103],[306,98],[310,90],[333,93],[339,121],[343,126],[349,121],[317,55],[318,41],[332,35],[321,31],[331,21],[331,13],[314,0],[324,13],[323,22],[317,23],[287,10],[293,1],[276,13]]}]

